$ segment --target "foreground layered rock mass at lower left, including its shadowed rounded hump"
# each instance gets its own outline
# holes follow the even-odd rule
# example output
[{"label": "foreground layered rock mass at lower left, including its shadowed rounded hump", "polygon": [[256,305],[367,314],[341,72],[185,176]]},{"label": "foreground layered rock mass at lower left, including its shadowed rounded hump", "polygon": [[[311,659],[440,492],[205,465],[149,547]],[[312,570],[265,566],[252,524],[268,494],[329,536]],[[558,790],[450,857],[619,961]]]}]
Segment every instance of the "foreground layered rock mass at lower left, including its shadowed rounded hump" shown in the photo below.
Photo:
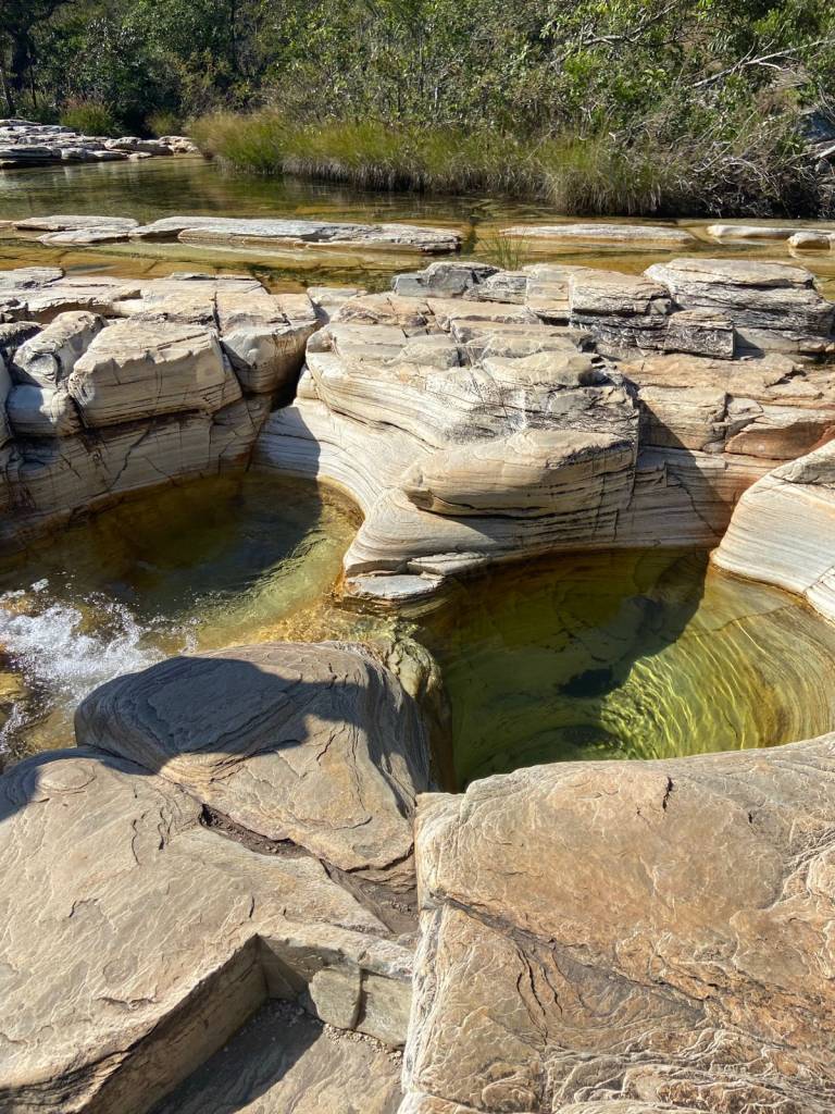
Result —
[{"label": "foreground layered rock mass at lower left, including its shadowed rounded hump", "polygon": [[[0,778],[3,1110],[149,1111],[268,998],[403,1044],[429,755],[392,674],[327,644],[175,659],[78,739]],[[310,1072],[393,1110],[391,1071],[326,1051]]]}]

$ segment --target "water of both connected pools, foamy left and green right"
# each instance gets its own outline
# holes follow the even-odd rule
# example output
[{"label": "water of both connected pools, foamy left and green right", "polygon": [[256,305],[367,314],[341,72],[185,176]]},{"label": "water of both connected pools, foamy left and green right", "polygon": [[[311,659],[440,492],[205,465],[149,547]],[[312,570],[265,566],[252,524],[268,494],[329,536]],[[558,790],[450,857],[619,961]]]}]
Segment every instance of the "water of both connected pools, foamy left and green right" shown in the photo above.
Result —
[{"label": "water of both connected pools, foamy left and green right", "polygon": [[835,627],[701,553],[553,557],[459,585],[422,625],[340,606],[357,519],[248,472],[106,510],[0,570],[0,750],[72,743],[86,693],[160,657],[400,628],[442,670],[459,786],[567,759],[765,746],[835,725]]}]

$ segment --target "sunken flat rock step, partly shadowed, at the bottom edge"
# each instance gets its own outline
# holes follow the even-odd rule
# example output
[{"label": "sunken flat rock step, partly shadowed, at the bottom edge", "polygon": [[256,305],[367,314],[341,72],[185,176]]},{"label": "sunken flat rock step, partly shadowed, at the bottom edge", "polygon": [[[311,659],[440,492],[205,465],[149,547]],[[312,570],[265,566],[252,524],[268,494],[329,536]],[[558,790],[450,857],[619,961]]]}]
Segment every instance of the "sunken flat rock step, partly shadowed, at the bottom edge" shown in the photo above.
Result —
[{"label": "sunken flat rock step, partly shadowed, at the bottom edge", "polygon": [[269,1003],[154,1114],[396,1114],[400,1058]]}]

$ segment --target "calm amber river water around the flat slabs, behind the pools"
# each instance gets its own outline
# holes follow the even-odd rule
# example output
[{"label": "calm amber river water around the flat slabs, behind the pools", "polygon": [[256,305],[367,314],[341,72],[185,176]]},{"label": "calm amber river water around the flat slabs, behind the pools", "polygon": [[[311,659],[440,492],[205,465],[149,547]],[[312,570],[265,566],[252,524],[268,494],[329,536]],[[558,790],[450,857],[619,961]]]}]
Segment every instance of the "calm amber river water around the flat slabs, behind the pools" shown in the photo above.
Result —
[{"label": "calm amber river water around the flat slabs, behind the pools", "polygon": [[[132,216],[147,222],[176,214],[223,216],[294,216],[340,221],[402,221],[453,227],[464,240],[464,254],[490,255],[497,229],[509,224],[562,221],[539,203],[480,196],[373,193],[296,178],[255,177],[224,172],[200,158],[156,158],[143,163],[104,163],[0,170],[0,221],[52,213],[94,213]],[[636,224],[678,224],[700,236],[709,221],[635,221]],[[752,222],[769,223],[769,222]],[[786,224],[787,222],[770,222]],[[798,227],[814,222],[798,222]],[[835,253],[788,253],[785,245],[718,245],[700,240],[686,251],[623,251],[621,248],[554,248],[533,241],[524,245],[520,263],[554,258],[637,274],[670,254],[703,252],[716,256],[797,258],[822,280],[835,297]],[[156,277],[171,271],[238,271],[256,275],[272,289],[307,283],[387,289],[393,272],[414,270],[420,258],[374,253],[360,256],[322,252],[274,254],[232,253],[181,244],[112,244],[96,248],[56,248],[0,228],[0,268],[23,265],[62,266],[70,272]]]}]

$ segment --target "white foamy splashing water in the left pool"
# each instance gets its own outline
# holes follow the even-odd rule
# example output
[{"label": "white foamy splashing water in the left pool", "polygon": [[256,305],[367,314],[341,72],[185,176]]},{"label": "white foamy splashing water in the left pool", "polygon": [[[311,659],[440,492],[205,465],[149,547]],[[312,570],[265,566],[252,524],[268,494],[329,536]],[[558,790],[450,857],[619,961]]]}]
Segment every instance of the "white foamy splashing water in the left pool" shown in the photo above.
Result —
[{"label": "white foamy splashing water in the left pool", "polygon": [[29,691],[0,729],[0,751],[31,714],[23,706],[31,700],[45,713],[58,705],[75,707],[106,681],[165,656],[148,642],[153,628],[140,625],[122,604],[90,597],[84,600],[85,614],[55,600],[48,589],[48,582],[40,580],[29,592],[0,596],[0,648]]}]

